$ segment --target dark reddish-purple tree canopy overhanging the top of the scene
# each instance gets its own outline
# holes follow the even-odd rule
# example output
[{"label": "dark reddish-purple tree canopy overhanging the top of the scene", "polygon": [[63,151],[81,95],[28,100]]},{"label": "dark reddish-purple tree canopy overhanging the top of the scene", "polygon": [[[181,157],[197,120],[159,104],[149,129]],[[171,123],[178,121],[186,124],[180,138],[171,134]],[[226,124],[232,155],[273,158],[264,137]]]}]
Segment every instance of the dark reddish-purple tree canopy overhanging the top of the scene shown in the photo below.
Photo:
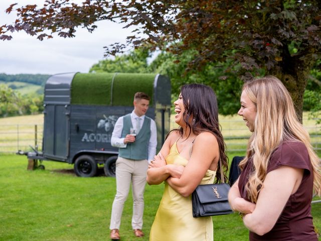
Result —
[{"label": "dark reddish-purple tree canopy overhanging the top of the scene", "polygon": [[281,79],[302,116],[307,77],[321,54],[320,9],[318,0],[46,0],[43,7],[11,5],[7,12],[16,10],[17,20],[0,27],[0,39],[10,40],[15,31],[40,40],[54,33],[66,38],[78,26],[93,31],[100,20],[126,23],[136,30],[126,44],[106,47],[107,55],[148,45],[177,56],[193,50],[187,70],[228,62],[225,71],[246,80],[263,69]]}]

